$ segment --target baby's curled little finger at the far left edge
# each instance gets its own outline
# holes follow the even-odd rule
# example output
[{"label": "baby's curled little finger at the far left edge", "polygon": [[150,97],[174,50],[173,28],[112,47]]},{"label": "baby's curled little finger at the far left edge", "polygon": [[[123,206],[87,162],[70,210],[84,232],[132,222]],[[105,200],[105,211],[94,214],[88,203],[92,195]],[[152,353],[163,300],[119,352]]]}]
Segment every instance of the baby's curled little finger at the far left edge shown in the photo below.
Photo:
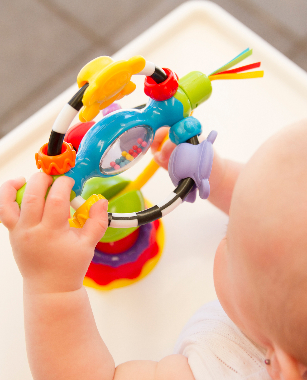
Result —
[{"label": "baby's curled little finger at the far left edge", "polygon": [[19,220],[20,209],[15,202],[17,190],[25,184],[24,177],[6,181],[0,187],[0,220],[10,230]]}]

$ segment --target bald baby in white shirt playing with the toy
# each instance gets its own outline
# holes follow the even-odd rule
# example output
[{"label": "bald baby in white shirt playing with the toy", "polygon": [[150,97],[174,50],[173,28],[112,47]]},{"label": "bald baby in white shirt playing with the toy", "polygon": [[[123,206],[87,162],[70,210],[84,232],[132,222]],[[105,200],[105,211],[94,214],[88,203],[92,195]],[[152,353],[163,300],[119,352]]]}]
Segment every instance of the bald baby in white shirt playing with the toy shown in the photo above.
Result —
[{"label": "bald baby in white shirt playing with the toy", "polygon": [[[154,151],[165,133],[157,132]],[[45,202],[51,177],[34,174],[21,211],[15,198],[24,178],[3,184],[0,220],[9,229],[24,281],[33,378],[307,378],[306,145],[305,121],[270,138],[246,165],[215,154],[209,200],[229,212],[228,231],[214,262],[220,304],[202,307],[182,332],[177,353],[159,362],[130,361],[115,367],[82,286],[108,225],[107,201],[92,206],[82,229],[70,228],[71,178],[59,177]],[[155,153],[161,166],[167,167],[173,149],[167,141]]]}]

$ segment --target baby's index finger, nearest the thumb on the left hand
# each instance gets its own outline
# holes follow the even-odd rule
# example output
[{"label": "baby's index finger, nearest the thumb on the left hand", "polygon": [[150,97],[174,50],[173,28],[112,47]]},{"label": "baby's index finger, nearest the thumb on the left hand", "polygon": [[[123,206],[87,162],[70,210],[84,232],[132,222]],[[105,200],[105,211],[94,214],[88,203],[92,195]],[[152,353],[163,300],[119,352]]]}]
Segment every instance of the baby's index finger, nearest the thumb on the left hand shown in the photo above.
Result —
[{"label": "baby's index finger, nearest the thumb on the left hand", "polygon": [[70,177],[57,178],[48,193],[42,223],[47,228],[59,230],[68,227],[70,193],[74,180]]}]

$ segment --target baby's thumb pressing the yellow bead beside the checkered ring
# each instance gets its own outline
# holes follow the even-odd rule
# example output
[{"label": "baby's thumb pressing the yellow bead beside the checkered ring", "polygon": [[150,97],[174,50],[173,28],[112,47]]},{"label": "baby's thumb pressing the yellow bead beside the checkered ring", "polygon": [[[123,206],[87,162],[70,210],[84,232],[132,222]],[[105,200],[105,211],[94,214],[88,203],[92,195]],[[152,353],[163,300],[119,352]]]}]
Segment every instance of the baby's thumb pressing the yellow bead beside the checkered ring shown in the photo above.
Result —
[{"label": "baby's thumb pressing the yellow bead beside the checkered ring", "polygon": [[106,232],[108,222],[108,200],[100,199],[90,208],[90,217],[82,228],[82,234],[95,246]]}]

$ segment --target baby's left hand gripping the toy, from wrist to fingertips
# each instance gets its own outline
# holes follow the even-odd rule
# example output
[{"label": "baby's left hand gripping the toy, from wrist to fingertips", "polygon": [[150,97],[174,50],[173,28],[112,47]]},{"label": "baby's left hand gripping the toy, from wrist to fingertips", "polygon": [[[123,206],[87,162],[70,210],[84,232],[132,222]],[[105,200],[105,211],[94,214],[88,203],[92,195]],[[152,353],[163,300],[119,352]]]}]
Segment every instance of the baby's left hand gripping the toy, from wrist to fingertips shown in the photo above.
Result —
[{"label": "baby's left hand gripping the toy, from wrist to fingertips", "polygon": [[108,227],[108,201],[90,209],[83,228],[70,228],[70,192],[74,180],[55,180],[36,173],[28,181],[21,209],[17,190],[25,179],[5,182],[0,188],[0,220],[9,230],[14,258],[24,279],[26,293],[60,293],[82,287],[97,242]]}]

